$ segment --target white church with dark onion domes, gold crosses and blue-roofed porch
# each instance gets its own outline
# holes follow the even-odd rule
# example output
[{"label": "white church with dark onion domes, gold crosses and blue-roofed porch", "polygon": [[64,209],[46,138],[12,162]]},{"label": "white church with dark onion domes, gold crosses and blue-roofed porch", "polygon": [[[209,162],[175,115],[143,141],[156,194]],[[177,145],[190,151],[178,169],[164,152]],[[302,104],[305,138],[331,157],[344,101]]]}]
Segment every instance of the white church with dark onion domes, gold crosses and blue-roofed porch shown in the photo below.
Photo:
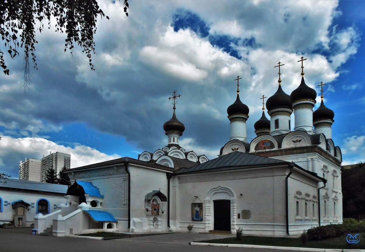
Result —
[{"label": "white church with dark onion domes, gold crosses and blue-roofed porch", "polygon": [[[279,69],[280,72],[280,69]],[[239,98],[227,109],[231,136],[218,157],[179,145],[185,126],[173,116],[163,125],[166,146],[68,170],[74,181],[66,204],[38,214],[65,236],[95,229],[120,232],[227,232],[287,236],[312,226],[342,223],[341,150],[331,139],[334,113],[323,103],[313,112],[316,91],[304,82],[291,95],[281,88],[268,98],[247,142],[249,108]],[[265,98],[265,97],[263,97]],[[264,99],[263,99],[264,105]],[[264,110],[264,107],[263,107]],[[294,113],[294,131],[291,114]]]}]

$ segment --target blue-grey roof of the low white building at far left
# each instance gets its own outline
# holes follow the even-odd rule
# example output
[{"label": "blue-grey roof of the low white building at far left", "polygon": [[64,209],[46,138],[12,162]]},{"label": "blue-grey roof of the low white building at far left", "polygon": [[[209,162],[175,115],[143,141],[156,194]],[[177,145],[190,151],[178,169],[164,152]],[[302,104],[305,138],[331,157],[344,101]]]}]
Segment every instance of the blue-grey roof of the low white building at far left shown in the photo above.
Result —
[{"label": "blue-grey roof of the low white building at far left", "polygon": [[67,185],[49,184],[37,181],[19,180],[15,178],[8,178],[1,180],[0,188],[18,189],[18,190],[30,190],[30,191],[42,191],[42,192],[54,192],[63,193],[67,192]]}]

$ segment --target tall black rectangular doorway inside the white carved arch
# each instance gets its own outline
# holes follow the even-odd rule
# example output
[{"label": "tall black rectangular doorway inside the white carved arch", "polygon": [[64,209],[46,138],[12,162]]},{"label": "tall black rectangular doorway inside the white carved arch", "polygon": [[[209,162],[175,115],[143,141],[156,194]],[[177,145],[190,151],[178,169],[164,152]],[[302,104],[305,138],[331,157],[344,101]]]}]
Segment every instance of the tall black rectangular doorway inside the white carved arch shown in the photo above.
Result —
[{"label": "tall black rectangular doorway inside the white carved arch", "polygon": [[231,201],[214,200],[214,230],[231,231]]}]

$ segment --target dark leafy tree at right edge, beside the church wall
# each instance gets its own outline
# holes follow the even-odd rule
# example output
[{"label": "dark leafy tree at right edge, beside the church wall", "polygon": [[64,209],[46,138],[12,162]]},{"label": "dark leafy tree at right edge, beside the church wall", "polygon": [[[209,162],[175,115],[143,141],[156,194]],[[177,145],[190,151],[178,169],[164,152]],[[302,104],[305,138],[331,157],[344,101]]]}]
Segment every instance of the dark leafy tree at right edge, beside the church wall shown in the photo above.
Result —
[{"label": "dark leafy tree at right edge, beside the church wall", "polygon": [[365,218],[365,162],[341,170],[344,218]]}]

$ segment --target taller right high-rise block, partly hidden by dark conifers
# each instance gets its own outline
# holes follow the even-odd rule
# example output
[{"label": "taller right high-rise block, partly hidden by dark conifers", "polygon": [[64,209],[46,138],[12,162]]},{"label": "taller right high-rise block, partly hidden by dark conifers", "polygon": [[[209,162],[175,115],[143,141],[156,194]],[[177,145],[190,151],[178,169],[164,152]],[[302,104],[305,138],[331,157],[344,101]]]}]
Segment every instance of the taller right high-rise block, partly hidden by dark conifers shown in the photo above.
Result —
[{"label": "taller right high-rise block, partly hidden by dark conifers", "polygon": [[61,152],[51,153],[48,156],[44,156],[41,159],[42,161],[42,169],[41,169],[41,181],[46,181],[46,171],[48,168],[53,167],[53,169],[58,174],[60,170],[65,166],[67,169],[70,169],[71,165],[71,155],[65,154]]}]

